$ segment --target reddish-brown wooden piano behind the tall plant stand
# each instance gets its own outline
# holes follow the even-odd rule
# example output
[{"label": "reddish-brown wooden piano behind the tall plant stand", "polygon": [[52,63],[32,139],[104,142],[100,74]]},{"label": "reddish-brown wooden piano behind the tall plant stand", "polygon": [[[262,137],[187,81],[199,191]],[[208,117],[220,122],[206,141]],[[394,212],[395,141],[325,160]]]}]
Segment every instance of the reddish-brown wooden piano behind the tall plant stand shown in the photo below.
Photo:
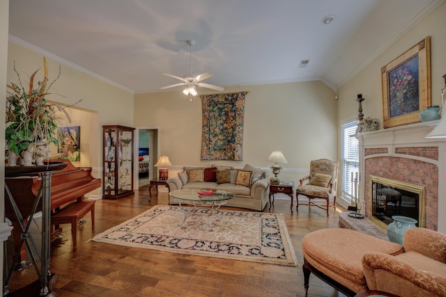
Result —
[{"label": "reddish-brown wooden piano behind the tall plant stand", "polygon": [[[93,177],[91,167],[76,167],[69,160],[51,160],[63,161],[68,163],[65,168],[52,172],[51,181],[51,210],[52,213],[63,209],[66,204],[75,201],[82,201],[84,195],[101,186],[101,179]],[[40,188],[42,177],[21,176],[6,178],[5,182],[12,194],[18,209],[24,218],[32,214],[33,204]],[[5,193],[5,216],[13,223],[13,239],[15,250],[20,249],[21,234],[19,222],[11,207],[10,201]],[[42,200],[37,205],[36,211],[42,209]],[[26,251],[21,249],[21,261],[26,259]]]}]

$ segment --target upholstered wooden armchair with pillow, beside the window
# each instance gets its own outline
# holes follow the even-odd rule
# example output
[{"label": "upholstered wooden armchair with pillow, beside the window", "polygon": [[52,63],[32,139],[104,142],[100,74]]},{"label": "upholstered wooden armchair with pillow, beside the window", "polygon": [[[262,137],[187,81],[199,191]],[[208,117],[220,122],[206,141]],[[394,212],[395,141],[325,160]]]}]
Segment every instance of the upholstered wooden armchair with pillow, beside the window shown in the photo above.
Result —
[{"label": "upholstered wooden armchair with pillow, beside the window", "polygon": [[[296,189],[296,200],[299,207],[298,195],[304,195],[308,198],[308,203],[301,205],[316,206],[327,211],[330,199],[333,200],[333,207],[336,204],[337,170],[339,163],[329,159],[318,159],[311,161],[309,166],[309,175],[300,179],[300,185]],[[326,206],[312,202],[313,199],[326,200]]]}]

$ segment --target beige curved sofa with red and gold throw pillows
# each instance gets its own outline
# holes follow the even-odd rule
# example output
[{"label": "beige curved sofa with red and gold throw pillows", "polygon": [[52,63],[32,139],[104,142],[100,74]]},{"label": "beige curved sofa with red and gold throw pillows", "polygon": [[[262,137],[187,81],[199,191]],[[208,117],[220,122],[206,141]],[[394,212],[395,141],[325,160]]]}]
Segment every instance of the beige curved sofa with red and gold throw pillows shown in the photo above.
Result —
[{"label": "beige curved sofa with red and gold throw pillows", "polygon": [[[214,165],[208,168],[185,167],[178,177],[167,179],[169,192],[180,188],[229,191],[236,197],[225,206],[257,211],[262,211],[268,204],[269,184],[266,172],[249,164],[243,169]],[[178,202],[169,197],[169,204]]]}]

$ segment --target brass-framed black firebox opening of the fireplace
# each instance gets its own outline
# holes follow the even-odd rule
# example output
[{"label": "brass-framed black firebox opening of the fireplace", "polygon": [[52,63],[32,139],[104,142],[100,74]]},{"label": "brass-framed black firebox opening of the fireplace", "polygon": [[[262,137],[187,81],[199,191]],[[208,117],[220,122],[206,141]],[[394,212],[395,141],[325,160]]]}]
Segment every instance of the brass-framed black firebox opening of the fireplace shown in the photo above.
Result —
[{"label": "brass-framed black firebox opening of the fireplace", "polygon": [[425,227],[426,187],[385,177],[370,175],[370,220],[387,228],[392,216],[407,216]]}]

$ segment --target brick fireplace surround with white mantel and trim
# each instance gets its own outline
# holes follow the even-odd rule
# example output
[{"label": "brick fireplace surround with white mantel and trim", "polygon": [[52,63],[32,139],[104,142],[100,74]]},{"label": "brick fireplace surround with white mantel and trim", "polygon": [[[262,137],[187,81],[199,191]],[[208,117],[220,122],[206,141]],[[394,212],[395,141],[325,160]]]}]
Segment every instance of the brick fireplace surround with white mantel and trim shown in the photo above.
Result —
[{"label": "brick fireplace surround with white mantel and trim", "polygon": [[370,176],[426,188],[425,227],[446,233],[446,139],[428,139],[438,121],[364,132],[360,141],[360,198],[371,215]]}]

